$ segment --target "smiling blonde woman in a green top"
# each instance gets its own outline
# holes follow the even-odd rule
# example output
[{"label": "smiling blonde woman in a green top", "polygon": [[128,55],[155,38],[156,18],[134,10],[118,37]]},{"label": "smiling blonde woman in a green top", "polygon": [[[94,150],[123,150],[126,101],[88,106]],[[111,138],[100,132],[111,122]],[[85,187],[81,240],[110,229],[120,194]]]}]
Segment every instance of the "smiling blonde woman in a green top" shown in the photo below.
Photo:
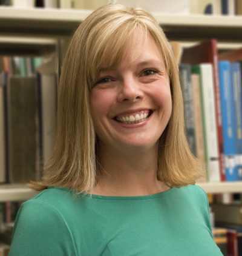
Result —
[{"label": "smiling blonde woman in a green top", "polygon": [[[80,24],[59,87],[44,190],[22,204],[12,255],[222,255],[193,185],[169,43],[149,13],[105,5]],[[189,186],[188,186],[189,185]]]}]

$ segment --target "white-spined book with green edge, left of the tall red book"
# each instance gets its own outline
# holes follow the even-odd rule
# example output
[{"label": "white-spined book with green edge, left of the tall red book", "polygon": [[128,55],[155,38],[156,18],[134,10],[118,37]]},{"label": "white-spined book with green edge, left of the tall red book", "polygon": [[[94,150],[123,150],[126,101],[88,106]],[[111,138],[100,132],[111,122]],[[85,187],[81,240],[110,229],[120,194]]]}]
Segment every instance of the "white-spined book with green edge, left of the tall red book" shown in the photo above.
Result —
[{"label": "white-spined book with green edge, left of the tall red book", "polygon": [[208,181],[220,181],[218,141],[215,123],[214,80],[212,64],[192,67],[192,73],[200,76],[201,111],[203,116],[204,154]]}]

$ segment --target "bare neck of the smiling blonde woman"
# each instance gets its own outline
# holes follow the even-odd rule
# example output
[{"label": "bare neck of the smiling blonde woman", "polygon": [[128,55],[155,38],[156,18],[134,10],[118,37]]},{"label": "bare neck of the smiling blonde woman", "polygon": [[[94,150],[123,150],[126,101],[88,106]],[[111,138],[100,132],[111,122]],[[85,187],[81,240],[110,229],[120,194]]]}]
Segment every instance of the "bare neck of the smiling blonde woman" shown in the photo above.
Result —
[{"label": "bare neck of the smiling blonde woman", "polygon": [[93,194],[137,196],[167,190],[157,180],[157,157],[157,147],[128,153],[99,150],[99,176]]}]

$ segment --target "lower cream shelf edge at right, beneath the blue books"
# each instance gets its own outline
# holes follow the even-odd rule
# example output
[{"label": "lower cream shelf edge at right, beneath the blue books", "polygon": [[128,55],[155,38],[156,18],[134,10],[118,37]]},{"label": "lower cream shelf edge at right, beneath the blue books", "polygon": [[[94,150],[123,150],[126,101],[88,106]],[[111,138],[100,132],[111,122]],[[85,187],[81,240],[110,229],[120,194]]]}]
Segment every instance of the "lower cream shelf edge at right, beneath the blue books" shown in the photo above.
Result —
[{"label": "lower cream shelf edge at right, beneath the blue books", "polygon": [[197,183],[208,194],[242,193],[242,181]]}]

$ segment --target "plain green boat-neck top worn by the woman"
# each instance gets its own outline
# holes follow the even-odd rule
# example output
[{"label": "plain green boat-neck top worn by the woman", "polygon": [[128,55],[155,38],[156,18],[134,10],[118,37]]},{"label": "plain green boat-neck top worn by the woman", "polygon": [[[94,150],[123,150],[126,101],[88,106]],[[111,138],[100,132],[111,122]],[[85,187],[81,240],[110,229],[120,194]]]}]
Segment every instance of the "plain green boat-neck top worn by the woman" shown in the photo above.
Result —
[{"label": "plain green boat-neck top worn by the woman", "polygon": [[139,197],[49,187],[22,204],[8,256],[223,256],[196,185]]}]

